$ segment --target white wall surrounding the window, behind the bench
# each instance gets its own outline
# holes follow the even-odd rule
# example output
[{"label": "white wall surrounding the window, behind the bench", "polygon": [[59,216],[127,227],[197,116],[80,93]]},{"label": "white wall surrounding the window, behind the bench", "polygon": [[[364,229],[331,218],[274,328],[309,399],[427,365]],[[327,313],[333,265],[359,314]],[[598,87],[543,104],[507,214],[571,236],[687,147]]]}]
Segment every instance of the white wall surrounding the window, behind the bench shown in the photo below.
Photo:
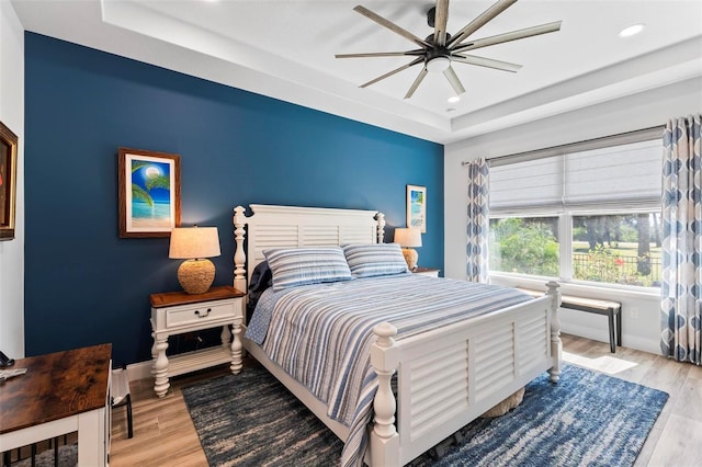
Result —
[{"label": "white wall surrounding the window, behind the bench", "polygon": [[[466,276],[464,259],[467,178],[465,169],[461,166],[462,161],[542,149],[653,126],[663,127],[671,117],[700,112],[702,112],[702,78],[694,78],[446,146],[444,149],[445,276],[454,278]],[[513,282],[501,281],[501,283],[517,285]],[[593,298],[622,301],[623,344],[648,352],[659,352],[660,318],[659,299],[656,295],[602,293],[602,289],[582,291],[573,286],[564,288],[573,295],[587,293]],[[564,310],[562,319],[564,332],[609,341],[604,317]]]}]

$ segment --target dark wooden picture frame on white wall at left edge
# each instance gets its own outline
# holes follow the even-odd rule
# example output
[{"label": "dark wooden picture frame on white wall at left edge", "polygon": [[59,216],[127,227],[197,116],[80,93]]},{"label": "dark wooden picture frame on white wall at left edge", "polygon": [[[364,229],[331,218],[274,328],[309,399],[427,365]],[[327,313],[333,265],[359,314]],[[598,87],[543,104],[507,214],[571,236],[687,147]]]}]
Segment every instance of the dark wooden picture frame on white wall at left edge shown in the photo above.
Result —
[{"label": "dark wooden picture frame on white wall at left edge", "polygon": [[18,136],[0,122],[0,240],[13,240],[18,195]]}]

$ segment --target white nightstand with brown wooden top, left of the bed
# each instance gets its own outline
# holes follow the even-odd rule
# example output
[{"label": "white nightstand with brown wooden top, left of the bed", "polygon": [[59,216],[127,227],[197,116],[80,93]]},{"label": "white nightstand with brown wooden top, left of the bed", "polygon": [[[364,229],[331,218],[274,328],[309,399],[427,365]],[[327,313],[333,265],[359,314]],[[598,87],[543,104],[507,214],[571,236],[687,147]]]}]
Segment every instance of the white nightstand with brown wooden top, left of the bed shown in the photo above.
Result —
[{"label": "white nightstand with brown wooden top, left of the bed", "polygon": [[[151,294],[151,348],[154,391],[165,397],[168,378],[196,369],[229,363],[231,373],[241,371],[241,324],[246,294],[230,286],[212,287],[204,294],[169,292]],[[222,345],[166,356],[168,338],[184,332],[222,327]],[[231,326],[231,331],[229,331]],[[234,334],[234,339],[231,339]]]}]

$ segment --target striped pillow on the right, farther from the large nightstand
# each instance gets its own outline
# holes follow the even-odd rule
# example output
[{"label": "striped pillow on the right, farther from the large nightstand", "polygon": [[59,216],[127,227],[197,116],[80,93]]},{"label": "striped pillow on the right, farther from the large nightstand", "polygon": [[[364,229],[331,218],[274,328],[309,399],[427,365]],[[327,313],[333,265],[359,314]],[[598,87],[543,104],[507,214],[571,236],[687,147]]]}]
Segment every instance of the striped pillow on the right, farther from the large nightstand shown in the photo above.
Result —
[{"label": "striped pillow on the right, farther from the large nightstand", "polygon": [[409,273],[397,243],[347,244],[343,254],[354,277]]}]

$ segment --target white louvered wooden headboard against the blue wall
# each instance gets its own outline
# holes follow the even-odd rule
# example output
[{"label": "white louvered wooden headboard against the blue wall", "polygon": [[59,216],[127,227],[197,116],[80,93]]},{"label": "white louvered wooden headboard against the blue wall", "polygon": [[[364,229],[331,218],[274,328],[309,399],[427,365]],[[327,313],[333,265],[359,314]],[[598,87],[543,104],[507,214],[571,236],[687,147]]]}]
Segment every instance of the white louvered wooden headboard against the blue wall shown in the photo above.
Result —
[{"label": "white louvered wooden headboard against the blue wall", "polygon": [[[250,216],[234,208],[234,286],[247,292],[257,264],[269,248],[382,243],[385,216],[377,210],[251,204]],[[246,253],[244,241],[247,240]],[[247,266],[248,258],[248,271]]]}]

